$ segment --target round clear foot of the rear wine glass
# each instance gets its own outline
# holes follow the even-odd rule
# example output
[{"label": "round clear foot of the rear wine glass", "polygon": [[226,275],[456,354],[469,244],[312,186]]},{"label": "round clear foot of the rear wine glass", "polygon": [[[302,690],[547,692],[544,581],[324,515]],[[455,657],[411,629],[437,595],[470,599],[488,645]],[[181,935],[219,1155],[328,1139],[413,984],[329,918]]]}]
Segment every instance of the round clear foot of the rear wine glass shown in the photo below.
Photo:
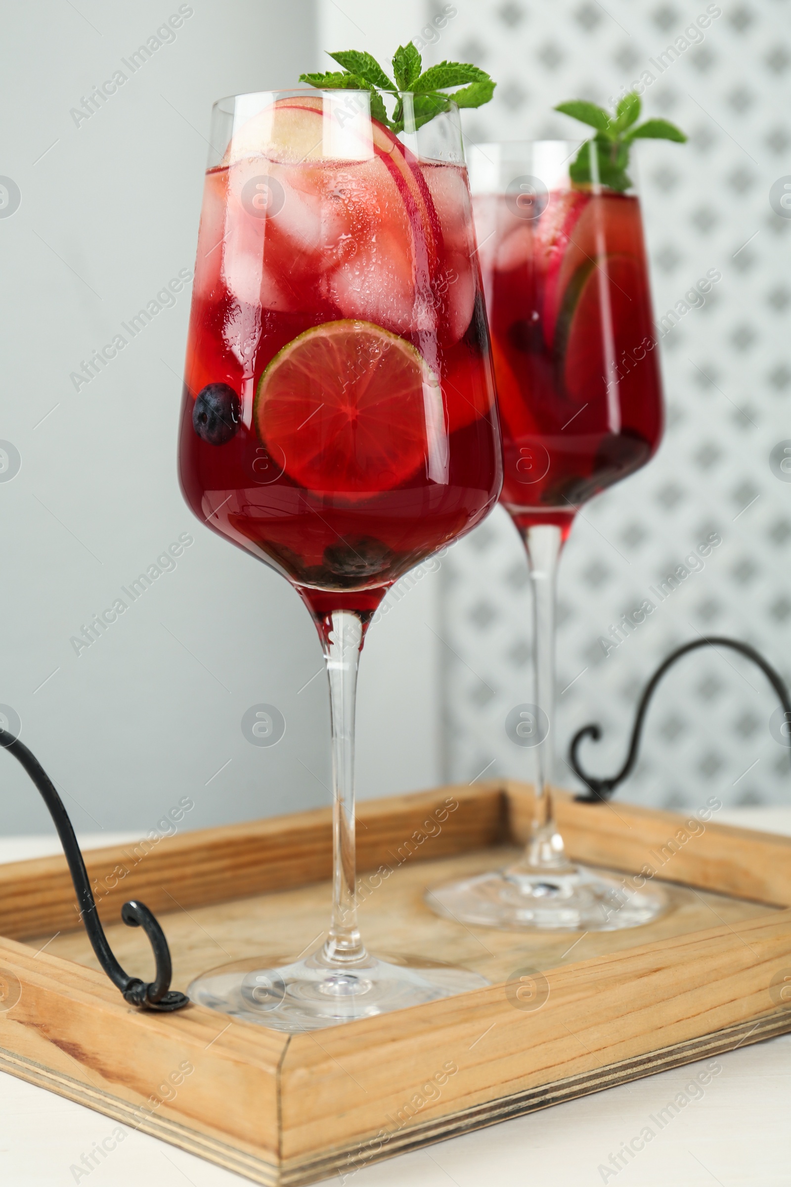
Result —
[{"label": "round clear foot of the rear wine glass", "polygon": [[624,882],[582,865],[562,874],[500,870],[432,887],[426,902],[446,919],[506,932],[617,932],[664,914],[662,889]]}]

